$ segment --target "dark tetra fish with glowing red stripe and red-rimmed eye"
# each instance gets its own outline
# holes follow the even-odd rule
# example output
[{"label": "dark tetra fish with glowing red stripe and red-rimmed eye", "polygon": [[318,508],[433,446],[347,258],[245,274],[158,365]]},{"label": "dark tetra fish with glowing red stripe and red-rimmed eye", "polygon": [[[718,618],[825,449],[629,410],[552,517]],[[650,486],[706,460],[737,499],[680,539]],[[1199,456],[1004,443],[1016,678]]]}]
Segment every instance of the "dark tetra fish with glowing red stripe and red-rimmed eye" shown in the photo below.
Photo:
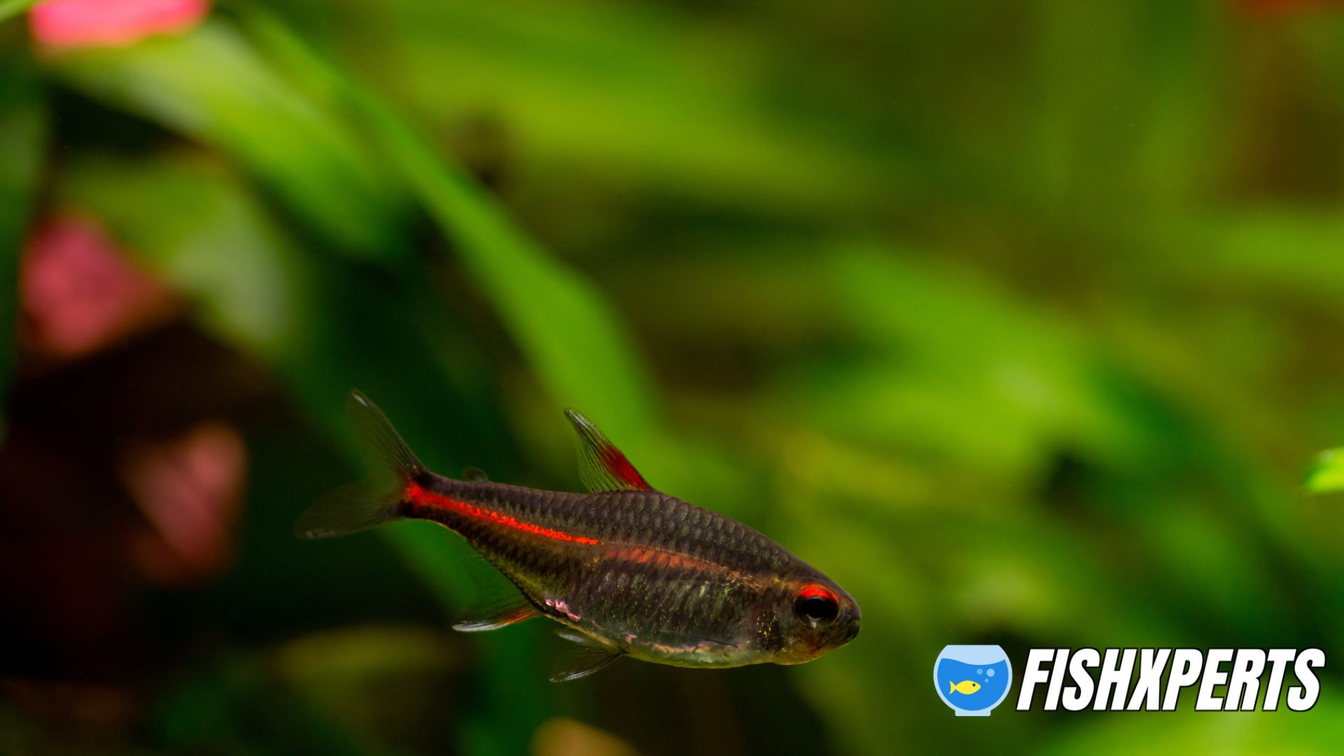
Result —
[{"label": "dark tetra fish with glowing red stripe and red-rimmed eye", "polygon": [[516,600],[464,619],[496,630],[536,616],[583,654],[551,679],[614,659],[684,667],[808,662],[859,635],[859,604],[750,527],[653,490],[601,430],[567,410],[587,494],[456,480],[425,468],[367,397],[348,409],[368,478],[328,494],[294,526],[302,538],[427,519],[465,538],[517,587]]}]

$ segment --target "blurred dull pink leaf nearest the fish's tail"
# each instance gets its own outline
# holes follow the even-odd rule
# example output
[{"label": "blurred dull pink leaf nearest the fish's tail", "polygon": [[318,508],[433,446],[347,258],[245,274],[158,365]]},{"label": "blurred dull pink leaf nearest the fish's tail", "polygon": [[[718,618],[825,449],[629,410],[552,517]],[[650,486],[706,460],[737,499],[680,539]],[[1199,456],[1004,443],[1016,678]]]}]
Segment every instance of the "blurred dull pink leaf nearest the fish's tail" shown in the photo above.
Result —
[{"label": "blurred dull pink leaf nearest the fish's tail", "polygon": [[134,541],[136,561],[152,580],[192,582],[228,565],[246,467],[242,437],[218,422],[126,456],[126,490],[155,529]]}]

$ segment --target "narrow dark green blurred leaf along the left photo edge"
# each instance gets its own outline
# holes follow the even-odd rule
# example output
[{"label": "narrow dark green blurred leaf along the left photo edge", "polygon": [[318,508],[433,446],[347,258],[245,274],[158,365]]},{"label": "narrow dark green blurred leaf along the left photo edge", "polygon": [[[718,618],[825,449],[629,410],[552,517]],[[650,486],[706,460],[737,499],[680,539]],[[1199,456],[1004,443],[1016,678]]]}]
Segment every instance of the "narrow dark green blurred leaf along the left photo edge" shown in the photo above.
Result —
[{"label": "narrow dark green blurred leaf along the left photo edge", "polygon": [[[3,17],[3,16],[0,16]],[[19,315],[19,256],[46,155],[47,113],[31,62],[0,31],[0,404],[13,370]],[[3,417],[0,417],[3,436]]]}]

